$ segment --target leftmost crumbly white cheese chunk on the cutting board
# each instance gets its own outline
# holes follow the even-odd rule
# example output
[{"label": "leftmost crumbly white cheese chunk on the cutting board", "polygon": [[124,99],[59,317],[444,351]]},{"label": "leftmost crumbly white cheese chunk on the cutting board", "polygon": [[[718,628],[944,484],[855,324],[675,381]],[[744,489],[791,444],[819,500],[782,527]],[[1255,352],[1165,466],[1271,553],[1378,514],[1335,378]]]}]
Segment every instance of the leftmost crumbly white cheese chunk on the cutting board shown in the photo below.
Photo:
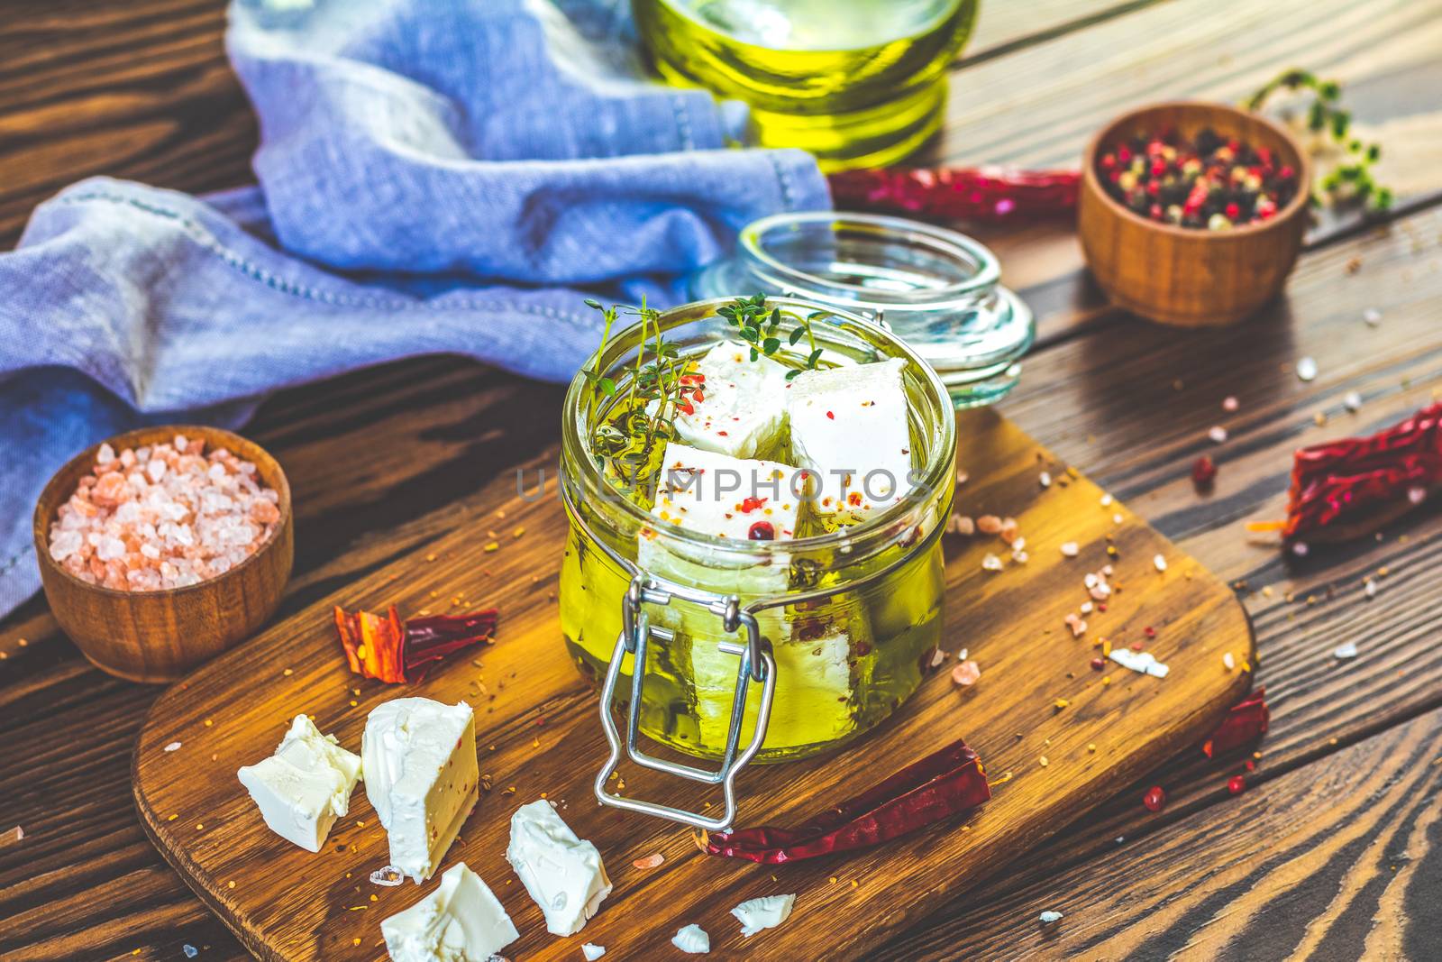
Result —
[{"label": "leftmost crumbly white cheese chunk on the cutting board", "polygon": [[360,759],[296,715],[275,754],[236,772],[273,832],[319,852],[336,818],[350,808]]}]

